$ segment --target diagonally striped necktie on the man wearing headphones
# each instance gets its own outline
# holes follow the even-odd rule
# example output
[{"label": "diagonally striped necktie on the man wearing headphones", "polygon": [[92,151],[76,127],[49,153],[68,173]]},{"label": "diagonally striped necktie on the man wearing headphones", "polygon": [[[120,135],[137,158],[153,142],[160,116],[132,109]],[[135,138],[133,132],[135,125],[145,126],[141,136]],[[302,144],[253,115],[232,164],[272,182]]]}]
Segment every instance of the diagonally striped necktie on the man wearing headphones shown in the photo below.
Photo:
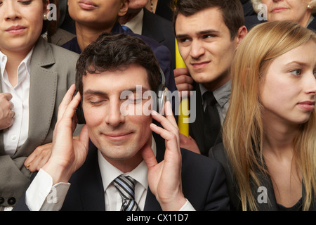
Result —
[{"label": "diagonally striped necktie on the man wearing headphones", "polygon": [[140,211],[135,201],[135,184],[134,180],[130,176],[117,176],[114,179],[114,186],[121,195],[122,205],[121,211]]}]

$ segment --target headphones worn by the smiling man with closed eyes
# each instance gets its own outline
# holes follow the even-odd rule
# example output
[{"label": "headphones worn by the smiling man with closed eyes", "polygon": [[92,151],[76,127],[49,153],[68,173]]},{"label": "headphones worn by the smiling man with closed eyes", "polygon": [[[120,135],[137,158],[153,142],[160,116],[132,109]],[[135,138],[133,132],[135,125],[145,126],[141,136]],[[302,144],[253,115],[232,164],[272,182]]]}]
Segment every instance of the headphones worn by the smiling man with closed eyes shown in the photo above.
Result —
[{"label": "headphones worn by the smiling man with closed eyes", "polygon": [[[169,90],[166,87],[166,78],[164,77],[164,72],[162,71],[161,68],[160,70],[160,75],[162,77],[162,82],[159,84],[157,91],[156,91],[156,96],[157,98],[155,99],[157,102],[155,103],[157,106],[157,112],[159,114],[164,114],[164,104],[166,101],[169,101]],[[77,94],[77,91],[76,91]],[[86,120],[84,119],[84,110],[82,110],[82,98],[79,103],[79,105],[76,108],[76,114],[77,114],[77,123],[78,124],[85,124]]]}]

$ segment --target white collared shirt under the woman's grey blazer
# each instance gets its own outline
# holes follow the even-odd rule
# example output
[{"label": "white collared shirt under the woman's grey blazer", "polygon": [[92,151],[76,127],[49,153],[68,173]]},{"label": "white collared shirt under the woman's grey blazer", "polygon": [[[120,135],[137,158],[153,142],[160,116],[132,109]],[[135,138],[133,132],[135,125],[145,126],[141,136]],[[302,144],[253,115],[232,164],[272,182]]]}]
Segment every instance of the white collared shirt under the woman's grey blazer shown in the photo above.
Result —
[{"label": "white collared shirt under the woman's grey blazer", "polygon": [[6,72],[7,57],[0,51],[1,88],[4,93],[11,93],[15,118],[11,127],[4,129],[4,150],[8,155],[14,155],[25,143],[29,131],[29,71],[33,49],[18,66],[18,83],[12,86]]}]

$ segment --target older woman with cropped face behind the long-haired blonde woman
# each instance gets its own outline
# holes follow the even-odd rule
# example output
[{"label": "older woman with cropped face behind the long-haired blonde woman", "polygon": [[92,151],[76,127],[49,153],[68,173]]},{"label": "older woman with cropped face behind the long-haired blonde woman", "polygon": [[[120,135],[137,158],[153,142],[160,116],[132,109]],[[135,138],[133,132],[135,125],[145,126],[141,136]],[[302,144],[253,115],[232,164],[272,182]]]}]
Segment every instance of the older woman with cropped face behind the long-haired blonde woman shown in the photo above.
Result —
[{"label": "older woman with cropped face behind the long-haired blonde woman", "polygon": [[[246,18],[246,23],[248,24],[257,24],[266,20],[270,22],[291,20],[303,27],[308,27],[308,29],[316,30],[316,0],[251,0],[251,3],[258,16],[265,16],[265,18],[260,21],[257,15],[249,16]],[[261,4],[264,4],[265,7],[263,8]],[[263,10],[265,11],[264,13]]]}]

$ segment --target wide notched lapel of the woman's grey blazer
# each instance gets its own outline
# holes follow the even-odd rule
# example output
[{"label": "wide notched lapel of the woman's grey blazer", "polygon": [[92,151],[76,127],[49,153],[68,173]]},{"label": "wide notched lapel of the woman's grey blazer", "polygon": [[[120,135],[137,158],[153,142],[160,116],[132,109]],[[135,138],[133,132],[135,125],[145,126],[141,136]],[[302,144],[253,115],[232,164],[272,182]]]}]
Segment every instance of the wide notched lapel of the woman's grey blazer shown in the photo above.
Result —
[{"label": "wide notched lapel of the woman's grey blazer", "polygon": [[[58,73],[51,70],[55,63],[53,51],[44,39],[39,39],[32,54],[29,85],[29,135],[15,153],[30,154],[45,140],[55,107]],[[41,129],[39,129],[41,127]]]}]

